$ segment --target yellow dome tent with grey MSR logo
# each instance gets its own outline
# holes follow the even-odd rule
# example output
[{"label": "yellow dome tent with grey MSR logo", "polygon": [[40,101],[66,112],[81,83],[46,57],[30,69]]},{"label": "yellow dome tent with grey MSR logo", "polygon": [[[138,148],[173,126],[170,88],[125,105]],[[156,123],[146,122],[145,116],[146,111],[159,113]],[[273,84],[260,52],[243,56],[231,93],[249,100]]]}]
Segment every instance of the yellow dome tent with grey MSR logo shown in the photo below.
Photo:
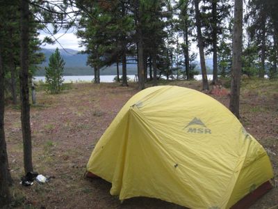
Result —
[{"label": "yellow dome tent with grey MSR logo", "polygon": [[148,196],[188,208],[231,208],[273,177],[263,147],[220,102],[156,86],[126,102],[87,171],[120,200]]}]

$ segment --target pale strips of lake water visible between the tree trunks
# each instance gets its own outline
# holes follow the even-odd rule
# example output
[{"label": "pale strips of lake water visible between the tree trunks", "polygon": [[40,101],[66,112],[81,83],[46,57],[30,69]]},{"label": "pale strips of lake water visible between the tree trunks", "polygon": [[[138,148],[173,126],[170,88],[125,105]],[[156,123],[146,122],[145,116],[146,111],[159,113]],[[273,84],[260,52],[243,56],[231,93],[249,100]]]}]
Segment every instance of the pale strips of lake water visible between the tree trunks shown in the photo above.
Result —
[{"label": "pale strips of lake water visible between the tree trunks", "polygon": [[[110,83],[113,82],[113,79],[116,77],[116,75],[101,75],[100,76],[100,82],[104,83]],[[129,81],[133,82],[135,75],[127,75],[129,77]],[[202,75],[195,75],[194,78],[197,81],[202,80]],[[71,76],[63,76],[65,83],[75,83],[75,82],[92,82],[94,80],[93,75],[71,75]],[[212,80],[213,75],[208,75],[208,80]],[[34,77],[35,82],[42,81],[45,82],[44,76],[35,76]]]}]

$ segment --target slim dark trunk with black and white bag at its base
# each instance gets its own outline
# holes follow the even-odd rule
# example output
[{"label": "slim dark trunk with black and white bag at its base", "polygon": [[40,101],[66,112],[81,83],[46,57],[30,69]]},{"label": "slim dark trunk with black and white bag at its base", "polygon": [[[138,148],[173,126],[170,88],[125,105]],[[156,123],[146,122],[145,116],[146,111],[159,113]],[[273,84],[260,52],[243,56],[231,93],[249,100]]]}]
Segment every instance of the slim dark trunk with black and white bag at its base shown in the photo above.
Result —
[{"label": "slim dark trunk with black and white bag at its base", "polygon": [[29,3],[21,1],[21,71],[20,71],[20,96],[21,96],[21,121],[24,150],[24,171],[33,171],[32,141],[30,126],[30,103],[28,82],[28,32],[29,32]]}]

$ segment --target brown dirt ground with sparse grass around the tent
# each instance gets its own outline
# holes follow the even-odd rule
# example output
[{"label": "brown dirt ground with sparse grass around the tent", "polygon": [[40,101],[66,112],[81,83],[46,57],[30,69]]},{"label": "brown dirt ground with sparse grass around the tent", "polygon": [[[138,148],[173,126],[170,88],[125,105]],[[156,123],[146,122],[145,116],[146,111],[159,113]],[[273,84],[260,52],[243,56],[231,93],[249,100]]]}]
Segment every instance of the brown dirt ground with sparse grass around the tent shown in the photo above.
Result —
[{"label": "brown dirt ground with sparse grass around the tent", "polygon": [[[170,85],[201,89],[199,82]],[[19,185],[23,171],[22,132],[18,106],[6,107],[5,127],[14,208],[183,208],[158,199],[138,197],[121,203],[111,196],[111,184],[84,179],[95,144],[124,103],[138,92],[136,84],[70,84],[63,93],[37,92],[31,107],[34,170],[53,176],[49,183]],[[245,80],[240,97],[240,121],[267,150],[276,187],[252,208],[278,208],[278,82]],[[229,95],[211,95],[227,106]],[[1,207],[0,207],[1,208]]]}]

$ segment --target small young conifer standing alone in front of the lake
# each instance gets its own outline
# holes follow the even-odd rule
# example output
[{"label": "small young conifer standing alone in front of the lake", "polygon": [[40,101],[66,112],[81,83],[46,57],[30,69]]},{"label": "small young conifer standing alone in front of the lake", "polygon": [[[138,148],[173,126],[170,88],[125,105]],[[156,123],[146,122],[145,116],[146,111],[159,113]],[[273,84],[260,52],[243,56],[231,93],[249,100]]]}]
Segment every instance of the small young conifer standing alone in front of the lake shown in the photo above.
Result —
[{"label": "small young conifer standing alone in front of the lake", "polygon": [[49,58],[49,67],[45,68],[45,82],[50,93],[59,93],[63,84],[63,70],[65,62],[60,56],[58,48]]}]

